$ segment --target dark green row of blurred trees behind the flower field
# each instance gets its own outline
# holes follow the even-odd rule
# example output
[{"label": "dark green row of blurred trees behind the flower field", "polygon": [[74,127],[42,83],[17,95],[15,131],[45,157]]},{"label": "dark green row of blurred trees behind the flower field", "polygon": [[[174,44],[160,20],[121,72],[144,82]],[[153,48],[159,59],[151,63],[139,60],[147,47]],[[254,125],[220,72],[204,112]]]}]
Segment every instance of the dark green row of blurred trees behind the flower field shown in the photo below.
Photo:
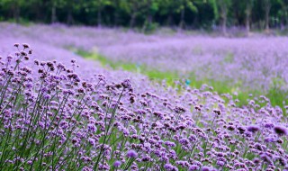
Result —
[{"label": "dark green row of blurred trees behind the flower field", "polygon": [[181,29],[287,29],[288,0],[0,0],[0,21]]}]

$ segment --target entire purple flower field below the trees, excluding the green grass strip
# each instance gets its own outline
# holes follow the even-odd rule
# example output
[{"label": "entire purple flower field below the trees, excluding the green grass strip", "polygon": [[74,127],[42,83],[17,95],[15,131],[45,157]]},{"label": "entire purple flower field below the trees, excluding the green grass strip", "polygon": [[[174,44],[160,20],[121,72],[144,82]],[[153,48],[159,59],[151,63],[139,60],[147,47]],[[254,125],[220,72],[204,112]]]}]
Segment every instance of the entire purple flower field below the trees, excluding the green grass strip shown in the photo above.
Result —
[{"label": "entire purple flower field below the trees, excluding the green grass strip", "polygon": [[[288,171],[285,37],[0,24],[1,170]],[[175,72],[175,85],[106,64]],[[142,67],[141,67],[142,66]],[[227,83],[219,93],[209,83]],[[275,97],[277,98],[277,97]]]}]

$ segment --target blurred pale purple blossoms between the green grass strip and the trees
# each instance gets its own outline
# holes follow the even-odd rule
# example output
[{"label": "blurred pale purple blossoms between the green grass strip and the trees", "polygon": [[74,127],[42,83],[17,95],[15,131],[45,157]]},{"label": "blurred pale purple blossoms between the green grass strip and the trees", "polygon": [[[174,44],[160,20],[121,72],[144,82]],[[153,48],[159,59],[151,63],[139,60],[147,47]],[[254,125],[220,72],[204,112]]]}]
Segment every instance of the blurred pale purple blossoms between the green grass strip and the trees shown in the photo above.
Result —
[{"label": "blurred pale purple blossoms between the green grass strip and the trees", "polygon": [[[63,57],[76,56],[65,50],[70,47],[72,50],[94,51],[113,61],[133,62],[165,71],[176,70],[183,76],[193,73],[197,80],[223,81],[233,85],[237,91],[239,88],[288,89],[286,37],[147,36],[112,29],[68,28],[63,25],[23,27],[11,23],[1,23],[0,27],[0,51],[9,49],[7,45],[15,40],[25,40],[31,42],[35,53],[42,58],[63,60]],[[27,31],[29,34],[23,33]]]}]

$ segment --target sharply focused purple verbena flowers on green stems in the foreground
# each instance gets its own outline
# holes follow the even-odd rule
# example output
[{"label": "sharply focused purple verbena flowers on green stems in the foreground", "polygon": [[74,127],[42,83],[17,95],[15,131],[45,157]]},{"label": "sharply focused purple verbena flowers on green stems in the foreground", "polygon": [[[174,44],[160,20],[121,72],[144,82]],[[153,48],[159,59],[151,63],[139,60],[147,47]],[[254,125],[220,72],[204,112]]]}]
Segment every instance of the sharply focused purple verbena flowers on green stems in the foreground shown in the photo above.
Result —
[{"label": "sharply focused purple verbena flowers on green stems in the foreground", "polygon": [[207,85],[113,82],[14,49],[0,59],[2,170],[288,170],[288,121],[265,96],[239,108]]}]

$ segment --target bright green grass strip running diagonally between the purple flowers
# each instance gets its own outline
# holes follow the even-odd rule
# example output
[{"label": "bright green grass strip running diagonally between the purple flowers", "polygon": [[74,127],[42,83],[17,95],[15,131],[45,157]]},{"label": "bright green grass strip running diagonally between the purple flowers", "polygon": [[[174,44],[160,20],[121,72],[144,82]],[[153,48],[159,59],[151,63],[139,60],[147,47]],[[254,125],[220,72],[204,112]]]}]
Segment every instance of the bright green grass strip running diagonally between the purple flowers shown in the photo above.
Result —
[{"label": "bright green grass strip running diagonally between the purple flowers", "polygon": [[[76,50],[76,54],[82,56],[83,58],[97,60],[101,63],[103,67],[111,67],[112,69],[122,69],[130,72],[138,72],[140,74],[146,75],[152,81],[160,82],[162,80],[166,80],[167,85],[175,86],[175,81],[180,80],[181,76],[177,71],[159,71],[155,68],[149,68],[145,65],[137,65],[135,63],[126,62],[123,60],[120,61],[112,61],[108,58],[103,57],[102,55],[87,52],[85,50]],[[229,56],[226,58],[229,62],[232,60],[232,57]],[[278,88],[271,88],[266,94],[258,90],[250,90],[250,91],[241,91],[241,85],[234,85],[230,86],[228,82],[217,81],[213,79],[196,79],[196,76],[193,73],[190,73],[189,76],[185,78],[186,85],[189,85],[194,88],[200,88],[203,84],[210,85],[213,87],[213,90],[218,94],[232,94],[234,99],[238,99],[239,103],[238,106],[247,105],[249,94],[253,94],[253,96],[265,95],[270,99],[270,102],[273,106],[279,106],[284,111],[284,116],[286,116],[286,110],[284,108],[284,102],[288,104],[288,92],[280,91]],[[237,92],[238,94],[235,95],[234,93]],[[263,106],[264,103],[258,103],[260,106]]]}]

